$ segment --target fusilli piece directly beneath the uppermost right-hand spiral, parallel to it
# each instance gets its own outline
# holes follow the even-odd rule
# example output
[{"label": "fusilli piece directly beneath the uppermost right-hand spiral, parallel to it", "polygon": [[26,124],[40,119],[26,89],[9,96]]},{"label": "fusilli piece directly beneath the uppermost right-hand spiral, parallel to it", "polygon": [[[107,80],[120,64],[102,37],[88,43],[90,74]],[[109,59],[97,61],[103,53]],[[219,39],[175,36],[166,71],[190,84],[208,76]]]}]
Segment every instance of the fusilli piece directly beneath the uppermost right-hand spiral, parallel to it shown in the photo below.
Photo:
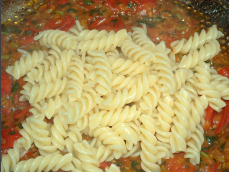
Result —
[{"label": "fusilli piece directly beneath the uppermost right-hand spiral, parallel to it", "polygon": [[201,46],[199,50],[194,50],[182,57],[178,68],[194,68],[199,61],[207,61],[212,59],[220,52],[220,44],[217,40],[212,40],[208,44]]}]

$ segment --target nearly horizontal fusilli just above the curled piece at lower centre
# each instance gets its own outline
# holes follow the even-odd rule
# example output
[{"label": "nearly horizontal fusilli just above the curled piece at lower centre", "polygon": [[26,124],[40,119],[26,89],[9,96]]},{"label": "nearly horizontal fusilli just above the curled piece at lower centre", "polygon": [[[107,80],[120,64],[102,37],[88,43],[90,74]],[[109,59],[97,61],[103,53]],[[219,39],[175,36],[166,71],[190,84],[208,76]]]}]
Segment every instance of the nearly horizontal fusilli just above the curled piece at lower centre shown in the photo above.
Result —
[{"label": "nearly horizontal fusilli just above the curled piece at lower centre", "polygon": [[102,110],[89,117],[89,127],[91,130],[98,127],[114,126],[118,123],[128,123],[138,119],[140,112],[136,109],[136,105],[125,106],[124,108],[114,109],[110,111]]}]

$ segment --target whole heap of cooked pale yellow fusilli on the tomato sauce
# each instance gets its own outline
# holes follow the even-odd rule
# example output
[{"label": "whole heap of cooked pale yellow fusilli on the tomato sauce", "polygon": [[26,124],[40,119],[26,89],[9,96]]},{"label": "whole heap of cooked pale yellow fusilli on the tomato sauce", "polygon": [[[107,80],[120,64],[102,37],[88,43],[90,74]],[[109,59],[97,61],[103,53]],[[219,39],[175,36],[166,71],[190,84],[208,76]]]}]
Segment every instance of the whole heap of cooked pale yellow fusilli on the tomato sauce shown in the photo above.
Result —
[{"label": "whole heap of cooked pale yellow fusilli on the tomato sauce", "polygon": [[[20,101],[29,101],[33,115],[3,155],[2,172],[99,172],[103,161],[138,155],[143,170],[156,172],[162,158],[178,152],[198,164],[205,109],[220,111],[221,98],[229,100],[228,78],[205,62],[219,53],[221,36],[212,26],[173,42],[171,51],[154,44],[145,25],[116,33],[84,30],[76,21],[68,32],[40,32],[34,39],[49,51],[21,51],[6,70],[24,76]],[[19,162],[32,144],[41,155]]]}]

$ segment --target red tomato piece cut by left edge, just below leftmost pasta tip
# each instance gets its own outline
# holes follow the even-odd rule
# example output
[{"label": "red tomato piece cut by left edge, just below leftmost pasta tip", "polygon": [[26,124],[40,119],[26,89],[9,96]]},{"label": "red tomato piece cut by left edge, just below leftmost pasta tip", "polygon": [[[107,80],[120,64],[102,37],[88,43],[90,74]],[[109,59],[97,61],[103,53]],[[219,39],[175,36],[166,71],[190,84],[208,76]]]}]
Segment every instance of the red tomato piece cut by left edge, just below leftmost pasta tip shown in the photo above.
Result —
[{"label": "red tomato piece cut by left edge, just below leftmost pasta tip", "polygon": [[10,95],[12,88],[12,80],[6,72],[1,73],[1,95]]}]

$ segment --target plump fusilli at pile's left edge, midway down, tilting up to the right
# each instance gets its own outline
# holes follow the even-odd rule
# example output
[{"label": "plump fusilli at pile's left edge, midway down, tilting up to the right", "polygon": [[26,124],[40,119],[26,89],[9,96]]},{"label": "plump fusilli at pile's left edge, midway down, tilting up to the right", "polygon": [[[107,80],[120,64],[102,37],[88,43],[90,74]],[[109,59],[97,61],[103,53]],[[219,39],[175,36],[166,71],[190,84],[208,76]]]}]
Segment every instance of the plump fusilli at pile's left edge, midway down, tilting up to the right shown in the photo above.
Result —
[{"label": "plump fusilli at pile's left edge, midway down, tilting up to the right", "polygon": [[57,79],[55,82],[42,82],[41,84],[30,85],[28,90],[22,90],[20,93],[24,94],[20,100],[26,97],[29,103],[37,103],[45,98],[51,98],[55,95],[60,95],[67,85],[67,78]]}]

